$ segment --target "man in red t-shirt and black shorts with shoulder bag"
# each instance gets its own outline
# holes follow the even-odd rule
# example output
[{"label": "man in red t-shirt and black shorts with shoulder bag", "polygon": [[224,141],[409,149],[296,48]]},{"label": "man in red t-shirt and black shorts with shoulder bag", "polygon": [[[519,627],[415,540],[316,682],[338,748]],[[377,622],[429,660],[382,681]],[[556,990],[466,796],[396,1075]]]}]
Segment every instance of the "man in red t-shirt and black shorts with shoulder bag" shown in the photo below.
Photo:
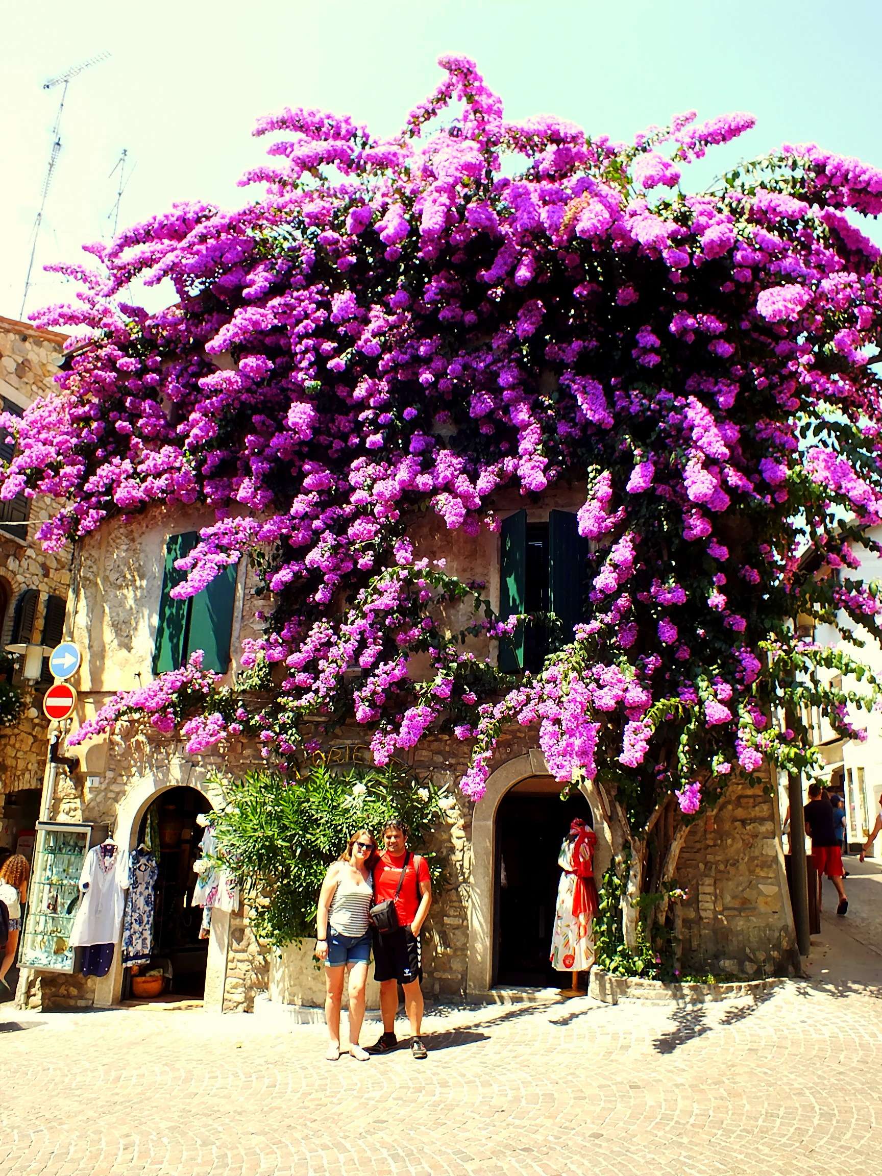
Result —
[{"label": "man in red t-shirt and black shorts with shoulder bag", "polygon": [[[426,1057],[420,1037],[422,1029],[422,961],[420,929],[432,906],[432,880],[426,858],[407,850],[407,826],[389,821],[383,829],[386,853],[374,867],[374,902],[392,900],[399,916],[399,928],[380,935],[374,931],[374,980],[380,981],[380,1011],[383,1033],[368,1054],[389,1054],[397,1047],[395,1013],[399,1007],[397,985],[405,994],[405,1010],[410,1022],[410,1053],[417,1060]],[[401,871],[405,878],[397,898]]]}]

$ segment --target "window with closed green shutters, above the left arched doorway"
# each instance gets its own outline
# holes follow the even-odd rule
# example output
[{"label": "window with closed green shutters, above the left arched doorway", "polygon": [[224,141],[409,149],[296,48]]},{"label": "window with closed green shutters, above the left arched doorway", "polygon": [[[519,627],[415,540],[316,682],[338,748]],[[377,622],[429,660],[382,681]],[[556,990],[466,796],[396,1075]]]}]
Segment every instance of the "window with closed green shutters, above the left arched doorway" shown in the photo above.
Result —
[{"label": "window with closed green shutters, above the left arched doorway", "polygon": [[180,669],[196,650],[203,653],[202,666],[216,674],[229,667],[229,646],[233,630],[233,601],[236,569],[225,568],[207,588],[187,600],[175,600],[171,593],[187,579],[186,572],[175,568],[175,561],[188,555],[199,542],[195,530],[169,535],[162,574],[162,594],[159,603],[156,643],[153,673]]}]

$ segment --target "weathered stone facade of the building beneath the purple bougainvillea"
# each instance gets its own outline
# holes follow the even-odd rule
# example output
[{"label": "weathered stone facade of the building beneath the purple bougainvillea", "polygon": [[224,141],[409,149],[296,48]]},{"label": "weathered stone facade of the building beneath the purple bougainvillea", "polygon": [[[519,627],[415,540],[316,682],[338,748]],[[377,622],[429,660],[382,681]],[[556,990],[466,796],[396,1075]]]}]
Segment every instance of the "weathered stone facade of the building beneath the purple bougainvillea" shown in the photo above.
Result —
[{"label": "weathered stone facade of the building beneath the purple bougainvillea", "polygon": [[[530,512],[530,521],[547,521],[550,509],[575,512],[582,500],[577,487],[561,488]],[[497,508],[505,516],[520,506],[501,500]],[[174,513],[155,507],[125,523],[109,521],[82,541],[76,567],[80,587],[68,614],[69,632],[83,652],[79,680],[74,679],[80,700],[76,721],[93,716],[113,693],[149,681],[166,540],[211,521],[196,507]],[[499,602],[499,535],[457,535],[450,544],[442,524],[423,516],[410,536],[417,556],[443,555],[448,570],[465,580],[483,580],[490,600]],[[240,664],[243,639],[256,635],[260,606],[253,573],[240,566],[232,608],[230,680]],[[343,729],[325,750],[346,761],[356,757],[365,743],[363,728]],[[172,736],[133,734],[132,728],[120,726],[75,753],[81,770],[65,773],[64,779],[59,774],[52,815],[103,822],[126,849],[134,848],[152,807],[161,806],[166,795],[195,789],[206,808],[221,802],[212,782],[212,757],[187,756]],[[537,869],[548,873],[550,868],[556,876],[557,849],[573,804],[582,807],[597,833],[599,877],[612,848],[602,806],[590,786],[567,802],[570,809],[561,806],[560,788],[548,775],[535,731],[516,728],[501,739],[487,794],[477,803],[467,801],[455,787],[466,759],[466,746],[442,735],[425,737],[412,751],[413,767],[432,773],[447,797],[446,820],[433,846],[446,860],[446,884],[435,896],[423,930],[425,989],[433,996],[481,998],[497,985],[547,982],[540,974],[540,957],[547,969],[549,910],[541,903],[528,909],[523,901],[535,889]],[[236,775],[261,761],[254,747],[233,744],[214,762]],[[690,887],[690,898],[681,908],[687,954],[748,974],[787,965],[793,918],[774,799],[734,787],[717,811],[690,831],[683,873],[687,877],[681,880]],[[249,1010],[261,993],[286,1004],[322,1002],[323,981],[312,961],[312,943],[281,954],[269,951],[255,938],[247,909],[218,914],[212,917],[206,958],[207,1007]],[[535,949],[530,960],[517,955],[516,940],[524,936],[533,944],[530,950]],[[26,975],[19,1000],[33,1007],[106,1005],[119,1001],[123,990],[116,962],[99,981],[51,973]],[[372,983],[368,1000],[376,1003],[376,997]]]}]

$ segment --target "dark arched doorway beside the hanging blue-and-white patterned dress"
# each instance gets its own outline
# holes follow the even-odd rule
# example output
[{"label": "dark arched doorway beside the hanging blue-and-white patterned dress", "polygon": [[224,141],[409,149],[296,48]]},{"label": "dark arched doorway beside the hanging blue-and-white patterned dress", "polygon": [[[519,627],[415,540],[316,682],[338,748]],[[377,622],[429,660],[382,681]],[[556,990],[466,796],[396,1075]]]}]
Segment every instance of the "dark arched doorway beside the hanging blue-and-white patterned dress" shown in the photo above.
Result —
[{"label": "dark arched doorway beside the hanging blue-and-white patterned dress", "polygon": [[[202,827],[196,817],[209,811],[208,800],[196,788],[166,788],[147,806],[138,828],[138,846],[153,851],[159,866],[154,896],[151,964],[171,973],[166,990],[178,997],[205,994],[208,937],[200,937],[202,908],[191,906]],[[129,995],[128,969],[122,997]]]}]

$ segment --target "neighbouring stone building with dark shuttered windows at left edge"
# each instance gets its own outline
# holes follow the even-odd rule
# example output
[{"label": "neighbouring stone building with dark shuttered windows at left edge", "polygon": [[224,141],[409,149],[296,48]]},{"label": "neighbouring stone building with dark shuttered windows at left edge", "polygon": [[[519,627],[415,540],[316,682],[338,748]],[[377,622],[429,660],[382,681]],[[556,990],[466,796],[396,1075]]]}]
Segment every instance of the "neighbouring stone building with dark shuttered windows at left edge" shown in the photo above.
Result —
[{"label": "neighbouring stone building with dark shuttered windows at left edge", "polygon": [[[20,413],[52,387],[61,361],[65,335],[38,330],[26,322],[0,318],[0,401]],[[2,440],[2,439],[0,439]],[[2,446],[5,456],[11,448]],[[34,543],[53,505],[24,496],[0,502],[0,646],[13,642],[55,643],[60,639],[71,580],[71,553],[45,553]],[[22,677],[22,659],[13,660],[12,684],[22,695],[20,719],[0,727],[0,849],[14,849],[18,837],[33,829],[39,815],[46,766],[48,722],[42,691],[52,681]]]}]

